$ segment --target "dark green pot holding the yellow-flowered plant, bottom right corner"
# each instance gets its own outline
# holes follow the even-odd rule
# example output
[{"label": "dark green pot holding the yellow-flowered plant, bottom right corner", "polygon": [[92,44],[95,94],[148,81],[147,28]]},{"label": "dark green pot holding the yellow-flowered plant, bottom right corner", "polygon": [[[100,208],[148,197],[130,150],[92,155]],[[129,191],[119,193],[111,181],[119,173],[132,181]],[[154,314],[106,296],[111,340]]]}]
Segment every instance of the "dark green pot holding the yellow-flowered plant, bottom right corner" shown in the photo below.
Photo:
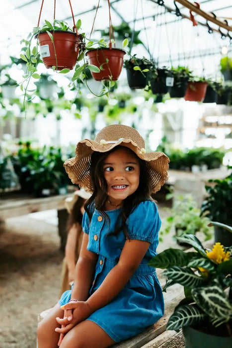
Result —
[{"label": "dark green pot holding the yellow-flowered plant, bottom right corner", "polygon": [[186,348],[231,348],[232,337],[221,337],[205,334],[204,332],[184,326],[182,328]]}]

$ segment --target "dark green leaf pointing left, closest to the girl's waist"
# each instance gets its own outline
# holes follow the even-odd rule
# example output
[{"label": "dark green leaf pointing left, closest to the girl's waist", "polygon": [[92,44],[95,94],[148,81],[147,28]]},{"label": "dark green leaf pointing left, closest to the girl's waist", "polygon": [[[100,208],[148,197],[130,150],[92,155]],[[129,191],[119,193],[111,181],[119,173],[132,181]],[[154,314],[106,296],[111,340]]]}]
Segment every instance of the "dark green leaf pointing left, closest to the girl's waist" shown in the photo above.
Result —
[{"label": "dark green leaf pointing left, closest to the girl's waist", "polygon": [[149,261],[149,265],[157,268],[167,268],[171,266],[187,266],[197,253],[185,253],[180,249],[167,249],[156,255]]}]

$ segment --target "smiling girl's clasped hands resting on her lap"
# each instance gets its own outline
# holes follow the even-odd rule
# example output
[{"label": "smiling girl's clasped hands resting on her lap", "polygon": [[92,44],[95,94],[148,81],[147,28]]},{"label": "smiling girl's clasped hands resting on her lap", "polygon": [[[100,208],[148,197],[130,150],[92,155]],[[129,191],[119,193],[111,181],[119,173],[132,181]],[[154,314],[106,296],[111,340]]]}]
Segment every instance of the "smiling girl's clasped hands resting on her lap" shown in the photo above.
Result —
[{"label": "smiling girl's clasped hands resting on her lap", "polygon": [[64,316],[64,319],[56,318],[57,322],[62,326],[61,328],[56,328],[55,331],[60,334],[66,334],[69,332],[75,325],[85,320],[93,313],[91,308],[88,306],[86,301],[78,302],[69,302],[66,305],[62,306],[61,309],[64,309],[65,312],[70,313],[72,310],[72,319],[70,320],[71,315],[68,317]]}]

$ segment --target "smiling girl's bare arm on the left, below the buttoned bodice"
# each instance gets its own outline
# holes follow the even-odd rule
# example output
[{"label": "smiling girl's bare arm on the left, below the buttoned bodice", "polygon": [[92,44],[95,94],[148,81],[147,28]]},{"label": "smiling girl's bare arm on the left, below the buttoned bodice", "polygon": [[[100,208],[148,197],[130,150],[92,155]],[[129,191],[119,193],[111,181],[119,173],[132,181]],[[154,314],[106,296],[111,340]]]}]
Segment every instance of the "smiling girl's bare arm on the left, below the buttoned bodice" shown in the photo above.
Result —
[{"label": "smiling girl's bare arm on the left, below the buttoned bodice", "polygon": [[75,269],[75,280],[71,299],[86,301],[92,285],[97,255],[87,250],[88,235],[84,233],[79,259]]}]

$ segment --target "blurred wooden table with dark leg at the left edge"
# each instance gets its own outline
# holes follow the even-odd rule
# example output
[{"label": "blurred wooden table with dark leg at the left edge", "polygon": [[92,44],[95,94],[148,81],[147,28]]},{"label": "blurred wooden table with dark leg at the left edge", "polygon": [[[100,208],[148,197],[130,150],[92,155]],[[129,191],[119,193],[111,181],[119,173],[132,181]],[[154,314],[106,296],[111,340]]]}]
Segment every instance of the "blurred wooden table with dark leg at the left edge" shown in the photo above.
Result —
[{"label": "blurred wooden table with dark leg at the left edge", "polygon": [[65,209],[65,199],[72,197],[72,193],[55,195],[43,198],[34,198],[28,195],[14,193],[0,198],[0,221],[7,218],[35,213],[49,209],[57,209],[58,232],[61,239],[61,249],[65,249],[67,236],[68,212]]}]

